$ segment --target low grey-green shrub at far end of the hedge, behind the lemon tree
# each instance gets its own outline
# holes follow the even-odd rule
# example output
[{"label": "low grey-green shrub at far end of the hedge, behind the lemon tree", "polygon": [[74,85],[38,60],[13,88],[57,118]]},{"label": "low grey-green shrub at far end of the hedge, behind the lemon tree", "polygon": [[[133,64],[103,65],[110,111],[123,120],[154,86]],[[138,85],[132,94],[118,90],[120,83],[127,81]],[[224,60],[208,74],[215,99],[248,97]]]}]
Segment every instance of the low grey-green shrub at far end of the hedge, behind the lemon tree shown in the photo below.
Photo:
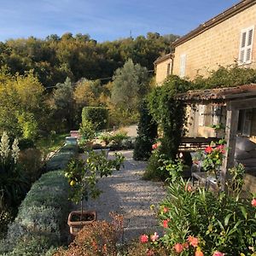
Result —
[{"label": "low grey-green shrub at far end of the hedge, behind the lemon tree", "polygon": [[78,152],[77,145],[64,145],[46,163],[47,171],[64,169],[69,160]]}]

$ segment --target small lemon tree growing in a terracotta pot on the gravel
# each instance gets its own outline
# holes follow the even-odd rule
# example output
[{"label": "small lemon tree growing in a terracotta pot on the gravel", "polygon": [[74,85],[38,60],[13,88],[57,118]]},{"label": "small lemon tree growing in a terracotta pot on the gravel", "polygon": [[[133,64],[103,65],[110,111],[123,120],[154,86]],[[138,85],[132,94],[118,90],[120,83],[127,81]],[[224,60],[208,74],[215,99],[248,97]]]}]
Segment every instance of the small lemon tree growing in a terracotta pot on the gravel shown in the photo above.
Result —
[{"label": "small lemon tree growing in a terracotta pot on the gravel", "polygon": [[114,154],[113,160],[108,160],[104,151],[96,154],[91,150],[86,160],[70,161],[65,171],[70,185],[69,199],[76,204],[80,202],[80,210],[70,212],[67,219],[71,235],[76,236],[85,224],[91,224],[96,220],[96,211],[84,211],[83,201],[88,201],[89,197],[99,196],[102,191],[96,188],[98,178],[108,177],[114,168],[119,170],[124,160],[125,157],[119,153]]}]

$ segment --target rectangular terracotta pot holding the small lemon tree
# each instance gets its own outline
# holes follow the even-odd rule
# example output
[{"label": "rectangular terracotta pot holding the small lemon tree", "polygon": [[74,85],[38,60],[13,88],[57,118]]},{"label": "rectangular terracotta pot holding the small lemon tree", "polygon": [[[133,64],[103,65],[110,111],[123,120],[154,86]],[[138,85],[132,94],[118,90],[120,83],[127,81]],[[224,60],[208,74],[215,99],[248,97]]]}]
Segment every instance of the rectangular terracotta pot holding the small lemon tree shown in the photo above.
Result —
[{"label": "rectangular terracotta pot holding the small lemon tree", "polygon": [[94,221],[96,221],[96,218],[96,211],[83,211],[82,220],[80,220],[81,211],[70,212],[67,218],[70,234],[77,236],[79,231],[83,229],[84,225],[92,224]]}]

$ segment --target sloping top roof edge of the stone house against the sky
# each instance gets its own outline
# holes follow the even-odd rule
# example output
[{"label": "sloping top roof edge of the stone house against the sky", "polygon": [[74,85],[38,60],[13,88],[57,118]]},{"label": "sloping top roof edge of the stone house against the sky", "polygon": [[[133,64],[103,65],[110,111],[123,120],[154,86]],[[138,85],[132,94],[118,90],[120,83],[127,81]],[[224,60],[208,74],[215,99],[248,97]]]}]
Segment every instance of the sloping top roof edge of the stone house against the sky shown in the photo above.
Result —
[{"label": "sloping top roof edge of the stone house against the sky", "polygon": [[216,26],[219,23],[223,22],[224,20],[230,19],[230,17],[237,15],[241,11],[253,6],[254,4],[256,4],[255,0],[242,0],[240,3],[236,3],[230,9],[226,9],[223,13],[213,17],[211,20],[207,20],[205,23],[196,27],[194,30],[192,30],[182,38],[177,39],[172,45],[174,47],[177,47],[178,45],[189,41],[191,38],[195,38],[202,32],[207,31],[212,26]]}]

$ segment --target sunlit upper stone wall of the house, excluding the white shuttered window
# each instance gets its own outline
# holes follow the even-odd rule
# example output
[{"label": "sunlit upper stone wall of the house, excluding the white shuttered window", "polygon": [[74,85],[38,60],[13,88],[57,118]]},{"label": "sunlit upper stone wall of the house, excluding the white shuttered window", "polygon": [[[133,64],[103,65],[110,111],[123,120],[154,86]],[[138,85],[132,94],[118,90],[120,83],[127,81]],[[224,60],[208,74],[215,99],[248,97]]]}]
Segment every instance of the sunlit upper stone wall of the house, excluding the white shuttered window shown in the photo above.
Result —
[{"label": "sunlit upper stone wall of the house, excluding the white shuttered window", "polygon": [[[195,29],[195,34],[190,32],[191,36],[188,34],[174,43],[173,74],[194,79],[196,74],[207,76],[208,71],[217,69],[219,65],[235,64],[240,54],[241,32],[247,28],[253,28],[252,57],[249,63],[241,66],[256,68],[256,2],[241,2],[224,12],[223,15],[228,16],[226,19],[218,15]],[[239,8],[241,11],[238,13],[229,14]],[[161,59],[155,61],[157,84],[166,79],[168,64],[172,66],[170,58]]]}]

